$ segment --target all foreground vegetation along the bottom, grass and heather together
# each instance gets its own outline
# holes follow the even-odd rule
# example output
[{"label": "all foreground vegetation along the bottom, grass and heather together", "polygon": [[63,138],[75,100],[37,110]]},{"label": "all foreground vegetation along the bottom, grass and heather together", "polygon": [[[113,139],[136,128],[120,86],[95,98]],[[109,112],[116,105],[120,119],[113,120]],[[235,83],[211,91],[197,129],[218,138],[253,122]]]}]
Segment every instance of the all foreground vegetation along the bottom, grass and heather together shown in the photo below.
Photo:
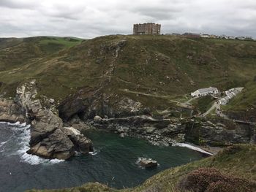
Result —
[{"label": "all foreground vegetation along the bottom, grass and heather together", "polygon": [[[201,169],[207,168],[207,169]],[[203,179],[198,177],[204,175]],[[207,175],[211,175],[208,178]],[[194,179],[199,180],[200,183],[195,183]],[[215,178],[215,180],[213,179]],[[159,174],[146,180],[142,185],[135,188],[127,188],[116,190],[108,188],[106,185],[99,183],[89,183],[77,188],[61,189],[61,190],[44,190],[55,192],[67,192],[67,191],[180,191],[180,185],[186,185],[184,179],[190,182],[190,186],[194,183],[198,186],[202,185],[202,188],[206,188],[208,185],[217,181],[225,181],[225,185],[230,185],[233,181],[240,182],[239,188],[235,191],[247,192],[256,190],[256,146],[255,145],[233,145],[227,147],[217,155],[195,161],[184,166],[178,166],[173,169],[167,169]],[[192,185],[193,184],[193,185]],[[217,183],[218,187],[223,187],[221,183]],[[237,184],[236,184],[237,185]],[[249,187],[248,187],[249,186]],[[225,186],[224,186],[225,187]],[[233,189],[234,190],[234,189]],[[38,191],[39,190],[32,190]],[[231,192],[231,191],[230,191]]]}]

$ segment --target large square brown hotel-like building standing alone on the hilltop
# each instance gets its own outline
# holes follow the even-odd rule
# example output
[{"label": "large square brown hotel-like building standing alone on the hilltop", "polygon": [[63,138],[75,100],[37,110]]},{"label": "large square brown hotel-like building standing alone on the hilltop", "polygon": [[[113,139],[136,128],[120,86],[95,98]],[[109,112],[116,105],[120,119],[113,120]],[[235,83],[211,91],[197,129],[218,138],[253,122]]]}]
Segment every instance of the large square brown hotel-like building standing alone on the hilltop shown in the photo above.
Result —
[{"label": "large square brown hotel-like building standing alone on the hilltop", "polygon": [[154,34],[159,35],[161,32],[161,25],[155,23],[143,23],[133,25],[133,34]]}]

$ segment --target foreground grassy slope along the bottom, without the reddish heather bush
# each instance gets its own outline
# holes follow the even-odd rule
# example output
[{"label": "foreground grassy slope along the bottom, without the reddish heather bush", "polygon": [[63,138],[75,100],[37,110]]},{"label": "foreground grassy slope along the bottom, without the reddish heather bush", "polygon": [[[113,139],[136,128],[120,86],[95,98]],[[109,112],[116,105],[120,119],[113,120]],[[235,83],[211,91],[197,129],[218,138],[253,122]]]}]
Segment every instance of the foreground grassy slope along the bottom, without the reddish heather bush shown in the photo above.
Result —
[{"label": "foreground grassy slope along the bottom, without the reddish heather bush", "polygon": [[[255,145],[234,145],[215,156],[195,161],[184,166],[167,169],[146,180],[145,183],[135,188],[120,191],[162,191],[176,192],[176,185],[184,175],[200,167],[211,167],[219,169],[222,173],[231,174],[246,180],[256,181],[256,146]],[[116,191],[105,185],[89,183],[78,188],[69,188],[60,191]],[[46,192],[46,191],[45,191]]]}]

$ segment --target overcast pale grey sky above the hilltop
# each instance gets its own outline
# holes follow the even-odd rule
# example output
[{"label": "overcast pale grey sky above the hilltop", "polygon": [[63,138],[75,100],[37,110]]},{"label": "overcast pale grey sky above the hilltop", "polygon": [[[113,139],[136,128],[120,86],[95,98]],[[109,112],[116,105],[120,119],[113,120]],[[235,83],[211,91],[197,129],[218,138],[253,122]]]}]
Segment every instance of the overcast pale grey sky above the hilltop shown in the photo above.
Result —
[{"label": "overcast pale grey sky above the hilltop", "polygon": [[255,38],[256,0],[0,0],[0,37],[132,34],[134,23]]}]

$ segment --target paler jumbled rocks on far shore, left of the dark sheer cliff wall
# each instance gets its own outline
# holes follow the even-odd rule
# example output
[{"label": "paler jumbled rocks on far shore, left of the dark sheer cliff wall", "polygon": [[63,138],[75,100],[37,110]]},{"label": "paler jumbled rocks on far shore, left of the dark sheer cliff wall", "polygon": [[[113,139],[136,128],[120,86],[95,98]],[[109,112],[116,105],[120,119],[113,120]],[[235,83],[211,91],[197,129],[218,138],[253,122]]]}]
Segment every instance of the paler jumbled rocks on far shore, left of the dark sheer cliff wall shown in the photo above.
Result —
[{"label": "paler jumbled rocks on far shore, left of the dark sheer cliff wall", "polygon": [[173,142],[184,142],[185,126],[175,120],[154,119],[148,115],[137,115],[127,118],[100,118],[89,122],[96,128],[104,128],[120,134],[120,137],[131,136],[148,140],[153,145],[172,145]]}]

